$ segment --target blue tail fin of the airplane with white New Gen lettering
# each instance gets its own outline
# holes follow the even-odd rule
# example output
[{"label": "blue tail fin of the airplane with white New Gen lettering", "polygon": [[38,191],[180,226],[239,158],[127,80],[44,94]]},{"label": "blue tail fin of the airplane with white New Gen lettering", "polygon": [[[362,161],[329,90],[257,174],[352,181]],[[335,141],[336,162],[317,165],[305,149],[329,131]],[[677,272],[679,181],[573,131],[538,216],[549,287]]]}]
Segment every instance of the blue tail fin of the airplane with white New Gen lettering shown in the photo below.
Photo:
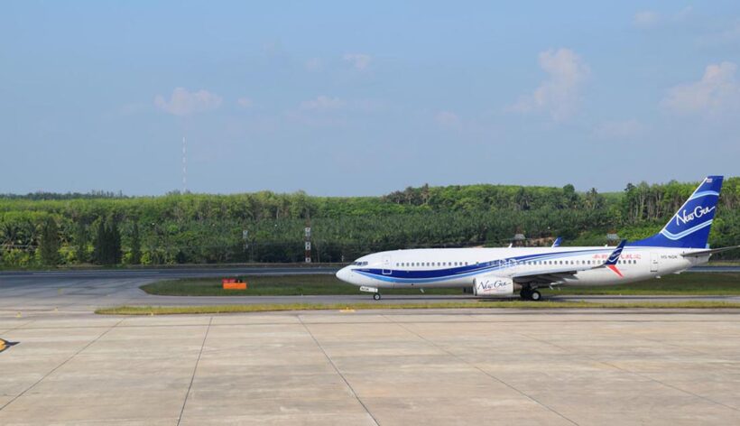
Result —
[{"label": "blue tail fin of the airplane with white New Gen lettering", "polygon": [[723,179],[722,176],[704,178],[661,232],[629,245],[707,248],[709,228],[715,217]]}]

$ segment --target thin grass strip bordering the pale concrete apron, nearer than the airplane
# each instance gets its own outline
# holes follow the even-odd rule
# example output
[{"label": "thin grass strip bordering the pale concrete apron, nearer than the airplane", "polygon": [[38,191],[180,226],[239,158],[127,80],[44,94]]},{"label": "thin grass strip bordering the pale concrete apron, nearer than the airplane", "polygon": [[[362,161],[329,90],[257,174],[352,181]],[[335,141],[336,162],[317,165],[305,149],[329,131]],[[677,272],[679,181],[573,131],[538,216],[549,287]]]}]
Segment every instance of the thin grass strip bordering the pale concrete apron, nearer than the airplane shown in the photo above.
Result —
[{"label": "thin grass strip bordering the pale concrete apron, nearer than the airplane", "polygon": [[95,311],[101,315],[178,315],[282,310],[422,310],[422,309],[740,309],[727,301],[448,301],[430,303],[260,303],[216,306],[118,306]]}]

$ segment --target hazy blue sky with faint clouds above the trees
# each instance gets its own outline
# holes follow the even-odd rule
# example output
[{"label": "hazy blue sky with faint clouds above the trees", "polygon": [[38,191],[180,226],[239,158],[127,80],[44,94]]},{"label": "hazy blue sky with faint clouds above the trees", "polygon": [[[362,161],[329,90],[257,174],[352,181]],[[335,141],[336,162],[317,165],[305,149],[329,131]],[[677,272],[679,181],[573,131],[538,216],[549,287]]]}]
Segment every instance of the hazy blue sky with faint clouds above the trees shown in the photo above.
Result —
[{"label": "hazy blue sky with faint clouds above the trees", "polygon": [[0,192],[740,175],[740,3],[14,2]]}]

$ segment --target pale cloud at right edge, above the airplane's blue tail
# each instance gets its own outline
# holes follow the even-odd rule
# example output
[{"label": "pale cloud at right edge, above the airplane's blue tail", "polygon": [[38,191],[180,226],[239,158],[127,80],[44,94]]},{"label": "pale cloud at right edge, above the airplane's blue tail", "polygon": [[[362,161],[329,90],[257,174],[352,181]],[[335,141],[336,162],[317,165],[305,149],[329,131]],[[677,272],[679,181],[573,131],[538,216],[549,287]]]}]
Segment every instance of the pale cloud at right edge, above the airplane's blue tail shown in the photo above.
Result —
[{"label": "pale cloud at right edge, above the airplane's blue tail", "polygon": [[733,62],[709,64],[700,80],[668,89],[661,105],[679,114],[718,115],[740,106]]}]

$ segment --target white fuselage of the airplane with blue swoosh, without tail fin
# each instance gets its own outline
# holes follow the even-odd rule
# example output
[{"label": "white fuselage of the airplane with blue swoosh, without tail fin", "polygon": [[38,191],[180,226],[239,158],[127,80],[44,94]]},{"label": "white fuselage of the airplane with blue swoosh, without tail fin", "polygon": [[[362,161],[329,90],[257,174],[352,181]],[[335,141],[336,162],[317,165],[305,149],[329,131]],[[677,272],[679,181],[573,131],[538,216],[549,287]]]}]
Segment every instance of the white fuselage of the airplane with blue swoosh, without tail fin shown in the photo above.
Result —
[{"label": "white fuselage of the airplane with blue swoosh, without tail fin", "polygon": [[[698,249],[628,245],[615,264],[618,272],[597,267],[613,250],[614,247],[608,246],[396,250],[365,255],[343,268],[337,276],[357,286],[378,289],[471,287],[476,276],[484,274],[517,281],[574,268],[578,273],[562,276],[554,284],[608,285],[680,273],[695,264],[706,263],[709,258],[708,255],[683,256]],[[590,265],[596,268],[590,269]],[[533,287],[538,285],[543,284],[532,282]]]}]

